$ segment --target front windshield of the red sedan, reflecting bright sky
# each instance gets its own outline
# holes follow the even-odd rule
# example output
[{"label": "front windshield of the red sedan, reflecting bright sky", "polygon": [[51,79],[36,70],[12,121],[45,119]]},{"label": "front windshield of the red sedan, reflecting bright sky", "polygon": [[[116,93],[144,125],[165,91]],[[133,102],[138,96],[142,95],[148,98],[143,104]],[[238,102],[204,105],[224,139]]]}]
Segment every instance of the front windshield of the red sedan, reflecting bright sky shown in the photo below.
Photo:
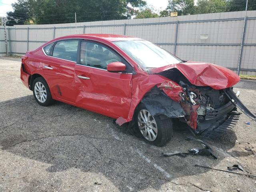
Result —
[{"label": "front windshield of the red sedan, reflecting bright sky", "polygon": [[182,62],[166,50],[146,40],[113,42],[144,70]]}]

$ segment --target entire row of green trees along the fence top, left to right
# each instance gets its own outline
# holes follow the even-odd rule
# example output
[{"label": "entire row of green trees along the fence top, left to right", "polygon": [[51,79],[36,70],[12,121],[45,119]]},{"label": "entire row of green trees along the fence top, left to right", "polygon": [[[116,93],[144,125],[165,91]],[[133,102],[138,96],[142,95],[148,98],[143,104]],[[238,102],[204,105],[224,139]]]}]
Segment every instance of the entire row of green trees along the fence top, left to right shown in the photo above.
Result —
[{"label": "entire row of green trees along the fence top, left to right", "polygon": [[[7,24],[58,24],[154,18],[245,10],[246,0],[168,0],[165,10],[147,6],[145,0],[18,0],[7,12]],[[256,0],[248,1],[248,10],[256,10]],[[32,21],[32,22],[31,22]]]}]

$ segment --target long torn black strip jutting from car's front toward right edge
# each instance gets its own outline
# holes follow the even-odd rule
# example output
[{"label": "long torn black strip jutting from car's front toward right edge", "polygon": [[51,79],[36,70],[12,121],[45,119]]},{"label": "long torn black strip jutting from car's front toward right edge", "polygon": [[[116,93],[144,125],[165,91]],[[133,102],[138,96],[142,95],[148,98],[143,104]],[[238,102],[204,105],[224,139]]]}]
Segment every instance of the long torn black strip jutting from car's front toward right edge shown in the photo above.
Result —
[{"label": "long torn black strip jutting from car's front toward right edge", "polygon": [[256,121],[256,116],[252,112],[250,112],[250,110],[246,106],[244,106],[244,104],[236,96],[232,88],[224,89],[224,92],[235,106],[237,106],[244,114],[246,114],[252,120]]}]

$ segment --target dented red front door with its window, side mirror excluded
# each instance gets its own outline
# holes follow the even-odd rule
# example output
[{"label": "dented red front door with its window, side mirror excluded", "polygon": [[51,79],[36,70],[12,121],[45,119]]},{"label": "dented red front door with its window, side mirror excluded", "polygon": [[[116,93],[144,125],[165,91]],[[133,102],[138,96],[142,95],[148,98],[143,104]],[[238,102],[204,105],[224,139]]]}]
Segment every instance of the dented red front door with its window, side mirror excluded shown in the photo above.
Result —
[{"label": "dented red front door with its window, side mirror excluded", "polygon": [[[118,118],[126,118],[131,104],[132,66],[110,47],[99,42],[80,41],[75,66],[76,105]],[[124,72],[108,72],[111,62],[126,64]]]}]

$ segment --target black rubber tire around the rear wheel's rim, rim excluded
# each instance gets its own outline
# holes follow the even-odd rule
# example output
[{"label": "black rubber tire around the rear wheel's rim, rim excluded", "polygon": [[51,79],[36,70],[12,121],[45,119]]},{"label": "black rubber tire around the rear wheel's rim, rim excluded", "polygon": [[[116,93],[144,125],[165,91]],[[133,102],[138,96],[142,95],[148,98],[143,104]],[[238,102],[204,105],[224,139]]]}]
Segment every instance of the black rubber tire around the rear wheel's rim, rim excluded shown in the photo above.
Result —
[{"label": "black rubber tire around the rear wheel's rim, rim excluded", "polygon": [[[37,82],[42,83],[44,85],[45,90],[46,90],[46,100],[44,102],[40,102],[40,100],[38,100],[38,98],[36,97],[35,85],[36,85]],[[46,83],[46,81],[44,80],[44,78],[38,77],[38,78],[34,79],[33,85],[32,85],[32,91],[33,91],[34,98],[36,99],[36,102],[38,102],[38,104],[40,104],[42,106],[49,106],[49,105],[52,104],[52,102],[53,102],[52,95],[51,95],[49,86]]]}]

